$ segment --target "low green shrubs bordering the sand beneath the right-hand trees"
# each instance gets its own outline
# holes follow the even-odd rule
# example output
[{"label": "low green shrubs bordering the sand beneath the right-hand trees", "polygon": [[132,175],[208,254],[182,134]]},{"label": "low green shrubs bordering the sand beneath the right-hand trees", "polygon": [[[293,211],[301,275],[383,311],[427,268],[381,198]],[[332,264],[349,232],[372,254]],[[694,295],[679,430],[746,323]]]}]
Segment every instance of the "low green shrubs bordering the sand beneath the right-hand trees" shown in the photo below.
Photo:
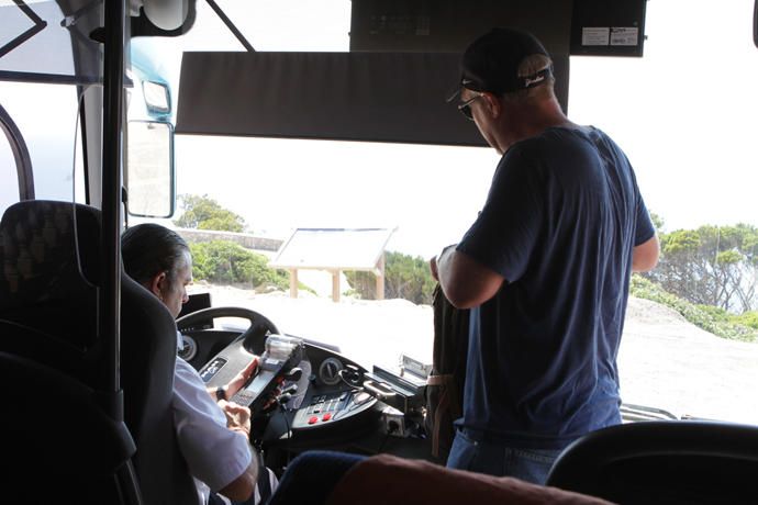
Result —
[{"label": "low green shrubs bordering the sand beneath the right-hand trees", "polygon": [[632,276],[629,294],[666,305],[693,325],[718,337],[744,341],[758,340],[758,325],[749,324],[754,322],[754,317],[758,319],[755,311],[735,316],[713,305],[695,305],[664,291],[660,285],[637,274]]}]

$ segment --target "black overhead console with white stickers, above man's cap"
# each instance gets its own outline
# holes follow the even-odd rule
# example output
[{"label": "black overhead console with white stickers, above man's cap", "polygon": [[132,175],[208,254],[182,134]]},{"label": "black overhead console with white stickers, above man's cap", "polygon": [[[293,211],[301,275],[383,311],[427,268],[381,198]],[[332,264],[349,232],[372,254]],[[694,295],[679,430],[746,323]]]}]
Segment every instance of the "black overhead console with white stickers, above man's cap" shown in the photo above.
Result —
[{"label": "black overhead console with white stickers, above man's cap", "polygon": [[551,55],[642,56],[647,0],[353,0],[350,52],[461,52],[493,26]]}]

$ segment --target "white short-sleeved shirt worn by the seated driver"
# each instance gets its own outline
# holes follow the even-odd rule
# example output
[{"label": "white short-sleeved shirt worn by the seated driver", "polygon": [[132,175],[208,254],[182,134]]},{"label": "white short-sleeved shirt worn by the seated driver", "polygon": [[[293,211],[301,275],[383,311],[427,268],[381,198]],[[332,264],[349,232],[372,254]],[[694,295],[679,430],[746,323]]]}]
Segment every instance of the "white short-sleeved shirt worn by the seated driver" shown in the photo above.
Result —
[{"label": "white short-sleeved shirt worn by the seated driver", "polygon": [[249,442],[226,428],[226,416],[208,394],[200,374],[179,357],[171,408],[179,450],[194,478],[199,503],[207,504],[210,490],[225,487],[249,467]]}]

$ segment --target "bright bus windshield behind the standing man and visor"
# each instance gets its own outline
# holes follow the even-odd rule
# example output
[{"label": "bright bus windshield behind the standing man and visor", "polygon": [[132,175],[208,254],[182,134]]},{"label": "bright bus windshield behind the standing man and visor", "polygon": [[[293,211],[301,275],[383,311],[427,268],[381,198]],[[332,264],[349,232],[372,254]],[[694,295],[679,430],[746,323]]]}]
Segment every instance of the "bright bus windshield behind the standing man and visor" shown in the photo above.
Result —
[{"label": "bright bus windshield behind the standing man and visor", "polygon": [[[348,50],[348,1],[319,2],[317,10],[309,2],[244,3],[230,2],[227,14],[257,50]],[[244,50],[203,8],[186,40],[158,41],[163,49],[176,57],[180,47]],[[622,397],[677,417],[758,423],[749,386],[758,379],[751,9],[747,0],[721,5],[724,22],[714,24],[712,3],[651,2],[644,57],[570,61],[569,117],[625,149],[664,245],[661,266],[633,281],[618,358]],[[178,59],[174,65],[177,79]],[[194,290],[210,291],[214,304],[257,310],[287,333],[336,345],[365,366],[397,366],[401,355],[431,362],[427,262],[481,209],[498,162],[493,149],[199,135],[178,135],[176,143],[180,203],[171,224],[178,227],[275,244],[303,228],[393,231],[384,247],[384,300],[376,300],[371,272],[341,272],[338,302],[330,271],[299,270],[297,298],[287,270],[257,285],[231,266],[211,272],[221,246],[193,246]],[[187,217],[203,205],[219,213],[215,224]],[[694,243],[685,245],[684,236]],[[256,252],[272,260],[276,249]],[[731,281],[723,280],[727,270]],[[733,295],[706,299],[707,282]]]}]

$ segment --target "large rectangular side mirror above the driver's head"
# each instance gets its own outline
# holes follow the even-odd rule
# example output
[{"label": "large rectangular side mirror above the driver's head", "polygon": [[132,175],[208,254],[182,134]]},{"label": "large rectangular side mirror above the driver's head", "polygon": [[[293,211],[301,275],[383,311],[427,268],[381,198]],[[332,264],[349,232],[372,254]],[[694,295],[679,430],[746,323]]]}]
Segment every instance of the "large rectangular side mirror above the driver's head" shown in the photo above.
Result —
[{"label": "large rectangular side mirror above the driver's head", "polygon": [[171,217],[176,206],[174,126],[167,121],[130,121],[127,138],[126,212]]}]

